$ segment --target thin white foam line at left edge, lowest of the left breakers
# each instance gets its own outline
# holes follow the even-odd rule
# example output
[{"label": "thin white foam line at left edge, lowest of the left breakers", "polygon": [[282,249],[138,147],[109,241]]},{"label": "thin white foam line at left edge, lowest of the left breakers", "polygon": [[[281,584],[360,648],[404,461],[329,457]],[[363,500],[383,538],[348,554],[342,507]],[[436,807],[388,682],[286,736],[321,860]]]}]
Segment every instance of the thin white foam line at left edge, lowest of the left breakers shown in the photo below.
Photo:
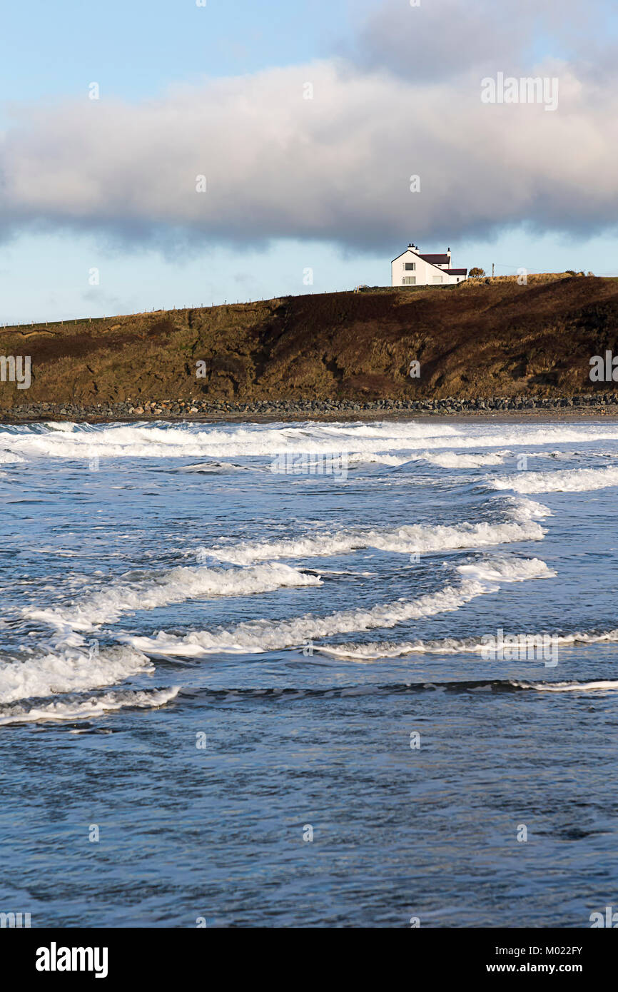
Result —
[{"label": "thin white foam line at left edge, lowest of the left breakers", "polygon": [[93,716],[118,709],[152,709],[165,706],[179,694],[180,686],[168,689],[147,689],[142,691],[106,692],[84,700],[44,703],[27,709],[25,706],[12,706],[0,710],[0,726],[9,723],[40,723],[44,721],[87,720]]}]

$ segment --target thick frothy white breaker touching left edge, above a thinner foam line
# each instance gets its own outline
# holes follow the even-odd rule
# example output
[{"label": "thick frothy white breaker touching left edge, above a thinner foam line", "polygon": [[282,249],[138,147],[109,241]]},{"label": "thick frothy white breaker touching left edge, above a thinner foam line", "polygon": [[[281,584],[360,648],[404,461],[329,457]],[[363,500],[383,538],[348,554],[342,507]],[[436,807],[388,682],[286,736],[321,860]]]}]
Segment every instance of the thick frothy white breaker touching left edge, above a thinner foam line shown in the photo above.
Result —
[{"label": "thick frothy white breaker touching left edge, above a thinner foam line", "polygon": [[104,688],[152,671],[152,663],[145,655],[124,645],[97,655],[64,646],[42,657],[2,663],[0,703]]}]

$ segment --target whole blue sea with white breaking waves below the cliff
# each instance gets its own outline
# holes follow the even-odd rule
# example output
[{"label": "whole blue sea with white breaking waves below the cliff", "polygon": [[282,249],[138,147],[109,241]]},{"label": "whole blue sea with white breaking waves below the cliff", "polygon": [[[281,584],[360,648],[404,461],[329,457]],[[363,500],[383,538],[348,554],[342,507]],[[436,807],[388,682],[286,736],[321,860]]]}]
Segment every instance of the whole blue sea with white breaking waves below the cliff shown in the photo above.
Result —
[{"label": "whole blue sea with white breaking waves below the cliff", "polygon": [[618,907],[618,423],[0,428],[0,912]]}]

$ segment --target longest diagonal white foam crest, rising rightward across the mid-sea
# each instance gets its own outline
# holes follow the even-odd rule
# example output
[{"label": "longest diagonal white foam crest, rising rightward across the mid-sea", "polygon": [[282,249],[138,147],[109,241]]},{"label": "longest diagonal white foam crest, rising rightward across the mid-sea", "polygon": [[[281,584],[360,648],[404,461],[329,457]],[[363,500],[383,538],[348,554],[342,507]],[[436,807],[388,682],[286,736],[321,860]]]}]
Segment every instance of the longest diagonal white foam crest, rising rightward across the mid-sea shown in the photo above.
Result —
[{"label": "longest diagonal white foam crest, rising rightward across the mid-sea", "polygon": [[[466,567],[459,566],[457,570],[461,574],[468,575],[470,572],[463,571]],[[452,612],[477,596],[496,591],[502,582],[550,578],[555,572],[539,558],[524,558],[513,561],[494,560],[487,563],[484,568],[477,566],[477,574],[483,577],[476,575],[465,577],[458,585],[446,585],[437,592],[428,593],[419,599],[399,599],[371,609],[342,610],[325,617],[306,614],[281,623],[252,620],[238,624],[232,630],[193,631],[185,637],[160,631],[154,638],[124,635],[122,640],[153,658],[200,658],[217,653],[259,654],[295,647],[335,634],[370,630],[376,627],[395,627],[408,620],[419,620],[437,613]]]}]

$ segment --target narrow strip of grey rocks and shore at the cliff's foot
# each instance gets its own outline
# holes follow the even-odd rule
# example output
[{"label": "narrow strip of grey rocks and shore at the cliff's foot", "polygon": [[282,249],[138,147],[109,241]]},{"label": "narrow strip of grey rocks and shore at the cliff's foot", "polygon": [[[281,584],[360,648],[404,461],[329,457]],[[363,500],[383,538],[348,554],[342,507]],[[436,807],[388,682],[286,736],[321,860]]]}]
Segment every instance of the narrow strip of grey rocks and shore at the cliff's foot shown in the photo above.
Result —
[{"label": "narrow strip of grey rocks and shore at the cliff's foot", "polygon": [[[183,409],[185,408],[185,409]],[[371,403],[348,401],[259,401],[249,404],[207,403],[205,401],[149,402],[142,407],[131,403],[106,403],[80,407],[73,404],[24,404],[0,410],[0,424],[73,423],[139,424],[168,423],[276,423],[295,421],[383,421],[383,420],[582,420],[618,418],[618,395],[584,395],[552,399],[530,397],[489,400],[379,400]]]}]

